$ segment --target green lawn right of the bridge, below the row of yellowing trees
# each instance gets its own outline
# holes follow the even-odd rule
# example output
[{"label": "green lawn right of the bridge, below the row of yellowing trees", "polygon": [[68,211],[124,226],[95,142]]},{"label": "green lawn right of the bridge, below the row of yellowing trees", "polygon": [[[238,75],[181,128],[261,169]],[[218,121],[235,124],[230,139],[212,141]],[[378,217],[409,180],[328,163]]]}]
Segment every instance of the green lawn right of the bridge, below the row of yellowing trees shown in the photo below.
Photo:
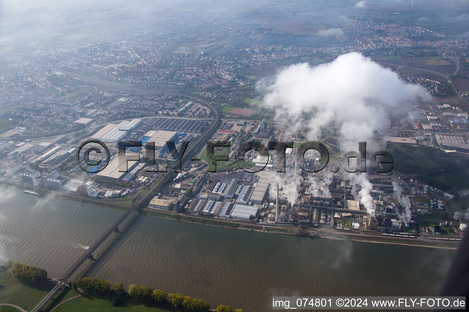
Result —
[{"label": "green lawn right of the bridge, below the row of yellowing trees", "polygon": [[169,312],[174,311],[168,308],[156,308],[149,303],[139,303],[133,300],[121,300],[121,304],[113,306],[112,297],[101,298],[89,295],[80,296],[69,300],[58,306],[54,312],[113,312],[113,311],[135,311],[135,312]]}]

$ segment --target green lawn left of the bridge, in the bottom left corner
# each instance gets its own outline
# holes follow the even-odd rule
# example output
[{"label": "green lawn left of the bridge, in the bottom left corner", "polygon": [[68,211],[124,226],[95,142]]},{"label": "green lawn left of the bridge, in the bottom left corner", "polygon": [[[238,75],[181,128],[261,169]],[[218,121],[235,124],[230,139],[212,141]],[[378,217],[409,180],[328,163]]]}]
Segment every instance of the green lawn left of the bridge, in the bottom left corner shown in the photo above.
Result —
[{"label": "green lawn left of the bridge, in the bottom left corner", "polygon": [[27,311],[32,310],[54,287],[53,284],[47,284],[31,288],[6,272],[0,273],[0,285],[4,286],[0,290],[0,303],[17,305]]}]

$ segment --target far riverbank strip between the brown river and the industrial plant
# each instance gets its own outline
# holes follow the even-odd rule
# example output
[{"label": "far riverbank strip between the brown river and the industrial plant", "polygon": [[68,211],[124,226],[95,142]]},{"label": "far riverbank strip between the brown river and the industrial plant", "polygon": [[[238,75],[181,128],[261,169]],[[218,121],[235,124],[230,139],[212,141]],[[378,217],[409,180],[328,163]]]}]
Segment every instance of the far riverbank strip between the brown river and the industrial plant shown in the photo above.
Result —
[{"label": "far riverbank strip between the brown river and the industrial plant", "polygon": [[[17,189],[21,189],[19,185],[9,185],[4,183],[5,181],[1,181],[1,184],[15,187]],[[31,188],[30,188],[31,189]],[[34,190],[34,189],[31,189]],[[41,190],[42,192],[42,190]],[[67,195],[59,192],[47,191],[49,194],[53,194],[58,198],[62,198],[65,200],[70,200],[78,203],[86,203],[93,206],[103,207],[107,209],[113,210],[126,210],[129,206],[123,206],[112,202],[104,202],[104,201],[97,201],[88,198],[83,198],[79,196],[72,196]],[[438,248],[438,249],[449,249],[454,250],[457,249],[459,246],[458,242],[452,241],[436,241],[436,240],[428,240],[425,238],[418,238],[418,239],[402,239],[402,238],[393,238],[393,237],[381,237],[374,235],[363,235],[363,234],[348,234],[344,232],[337,232],[334,230],[325,229],[322,227],[317,228],[308,228],[308,230],[313,232],[319,232],[321,235],[312,236],[302,236],[296,235],[290,231],[290,228],[293,229],[294,226],[291,227],[279,227],[279,226],[272,226],[267,224],[256,224],[251,222],[243,222],[243,221],[232,221],[232,220],[225,220],[225,219],[215,219],[215,218],[206,218],[206,217],[197,217],[191,216],[187,214],[177,213],[174,211],[166,211],[166,210],[153,210],[153,209],[140,209],[134,212],[135,214],[141,214],[145,216],[157,217],[157,218],[164,218],[164,219],[172,219],[182,222],[188,223],[195,223],[201,225],[211,225],[211,226],[218,226],[218,227],[227,227],[232,229],[238,230],[245,230],[251,232],[265,232],[265,233],[278,233],[278,234],[287,234],[287,235],[295,235],[301,236],[305,238],[324,238],[324,239],[336,239],[336,240],[351,240],[355,242],[364,242],[364,243],[377,243],[377,244],[388,244],[388,245],[401,245],[401,246],[415,246],[415,247],[427,247],[427,248]],[[268,231],[264,231],[264,226],[268,227]]]}]

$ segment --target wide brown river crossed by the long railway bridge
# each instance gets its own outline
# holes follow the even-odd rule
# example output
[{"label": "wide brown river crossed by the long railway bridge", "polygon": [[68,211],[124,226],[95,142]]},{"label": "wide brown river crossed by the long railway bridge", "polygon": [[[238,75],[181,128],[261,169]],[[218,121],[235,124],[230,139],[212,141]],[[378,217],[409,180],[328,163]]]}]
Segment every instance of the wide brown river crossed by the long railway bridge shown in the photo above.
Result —
[{"label": "wide brown river crossed by the long railway bridge", "polygon": [[[0,261],[60,277],[122,211],[0,186]],[[437,295],[455,252],[310,239],[130,215],[78,275],[179,292],[245,312],[272,295]],[[126,227],[126,225],[128,225]]]}]

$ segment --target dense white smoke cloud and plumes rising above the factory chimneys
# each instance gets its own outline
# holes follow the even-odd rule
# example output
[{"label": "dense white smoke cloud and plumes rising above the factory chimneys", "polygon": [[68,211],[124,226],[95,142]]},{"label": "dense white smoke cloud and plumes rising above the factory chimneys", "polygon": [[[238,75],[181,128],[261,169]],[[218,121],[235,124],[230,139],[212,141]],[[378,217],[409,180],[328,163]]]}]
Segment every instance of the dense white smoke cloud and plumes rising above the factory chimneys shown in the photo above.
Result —
[{"label": "dense white smoke cloud and plumes rising above the factory chimneys", "polygon": [[[276,122],[291,132],[307,127],[307,138],[316,140],[325,125],[339,125],[342,152],[356,150],[358,142],[370,141],[382,132],[387,109],[430,99],[423,87],[405,83],[397,73],[355,52],[316,67],[291,65],[274,78],[261,80],[257,87],[266,94],[265,104],[275,108]],[[356,190],[360,203],[373,211],[372,184],[366,175],[346,177],[360,186]]]}]

